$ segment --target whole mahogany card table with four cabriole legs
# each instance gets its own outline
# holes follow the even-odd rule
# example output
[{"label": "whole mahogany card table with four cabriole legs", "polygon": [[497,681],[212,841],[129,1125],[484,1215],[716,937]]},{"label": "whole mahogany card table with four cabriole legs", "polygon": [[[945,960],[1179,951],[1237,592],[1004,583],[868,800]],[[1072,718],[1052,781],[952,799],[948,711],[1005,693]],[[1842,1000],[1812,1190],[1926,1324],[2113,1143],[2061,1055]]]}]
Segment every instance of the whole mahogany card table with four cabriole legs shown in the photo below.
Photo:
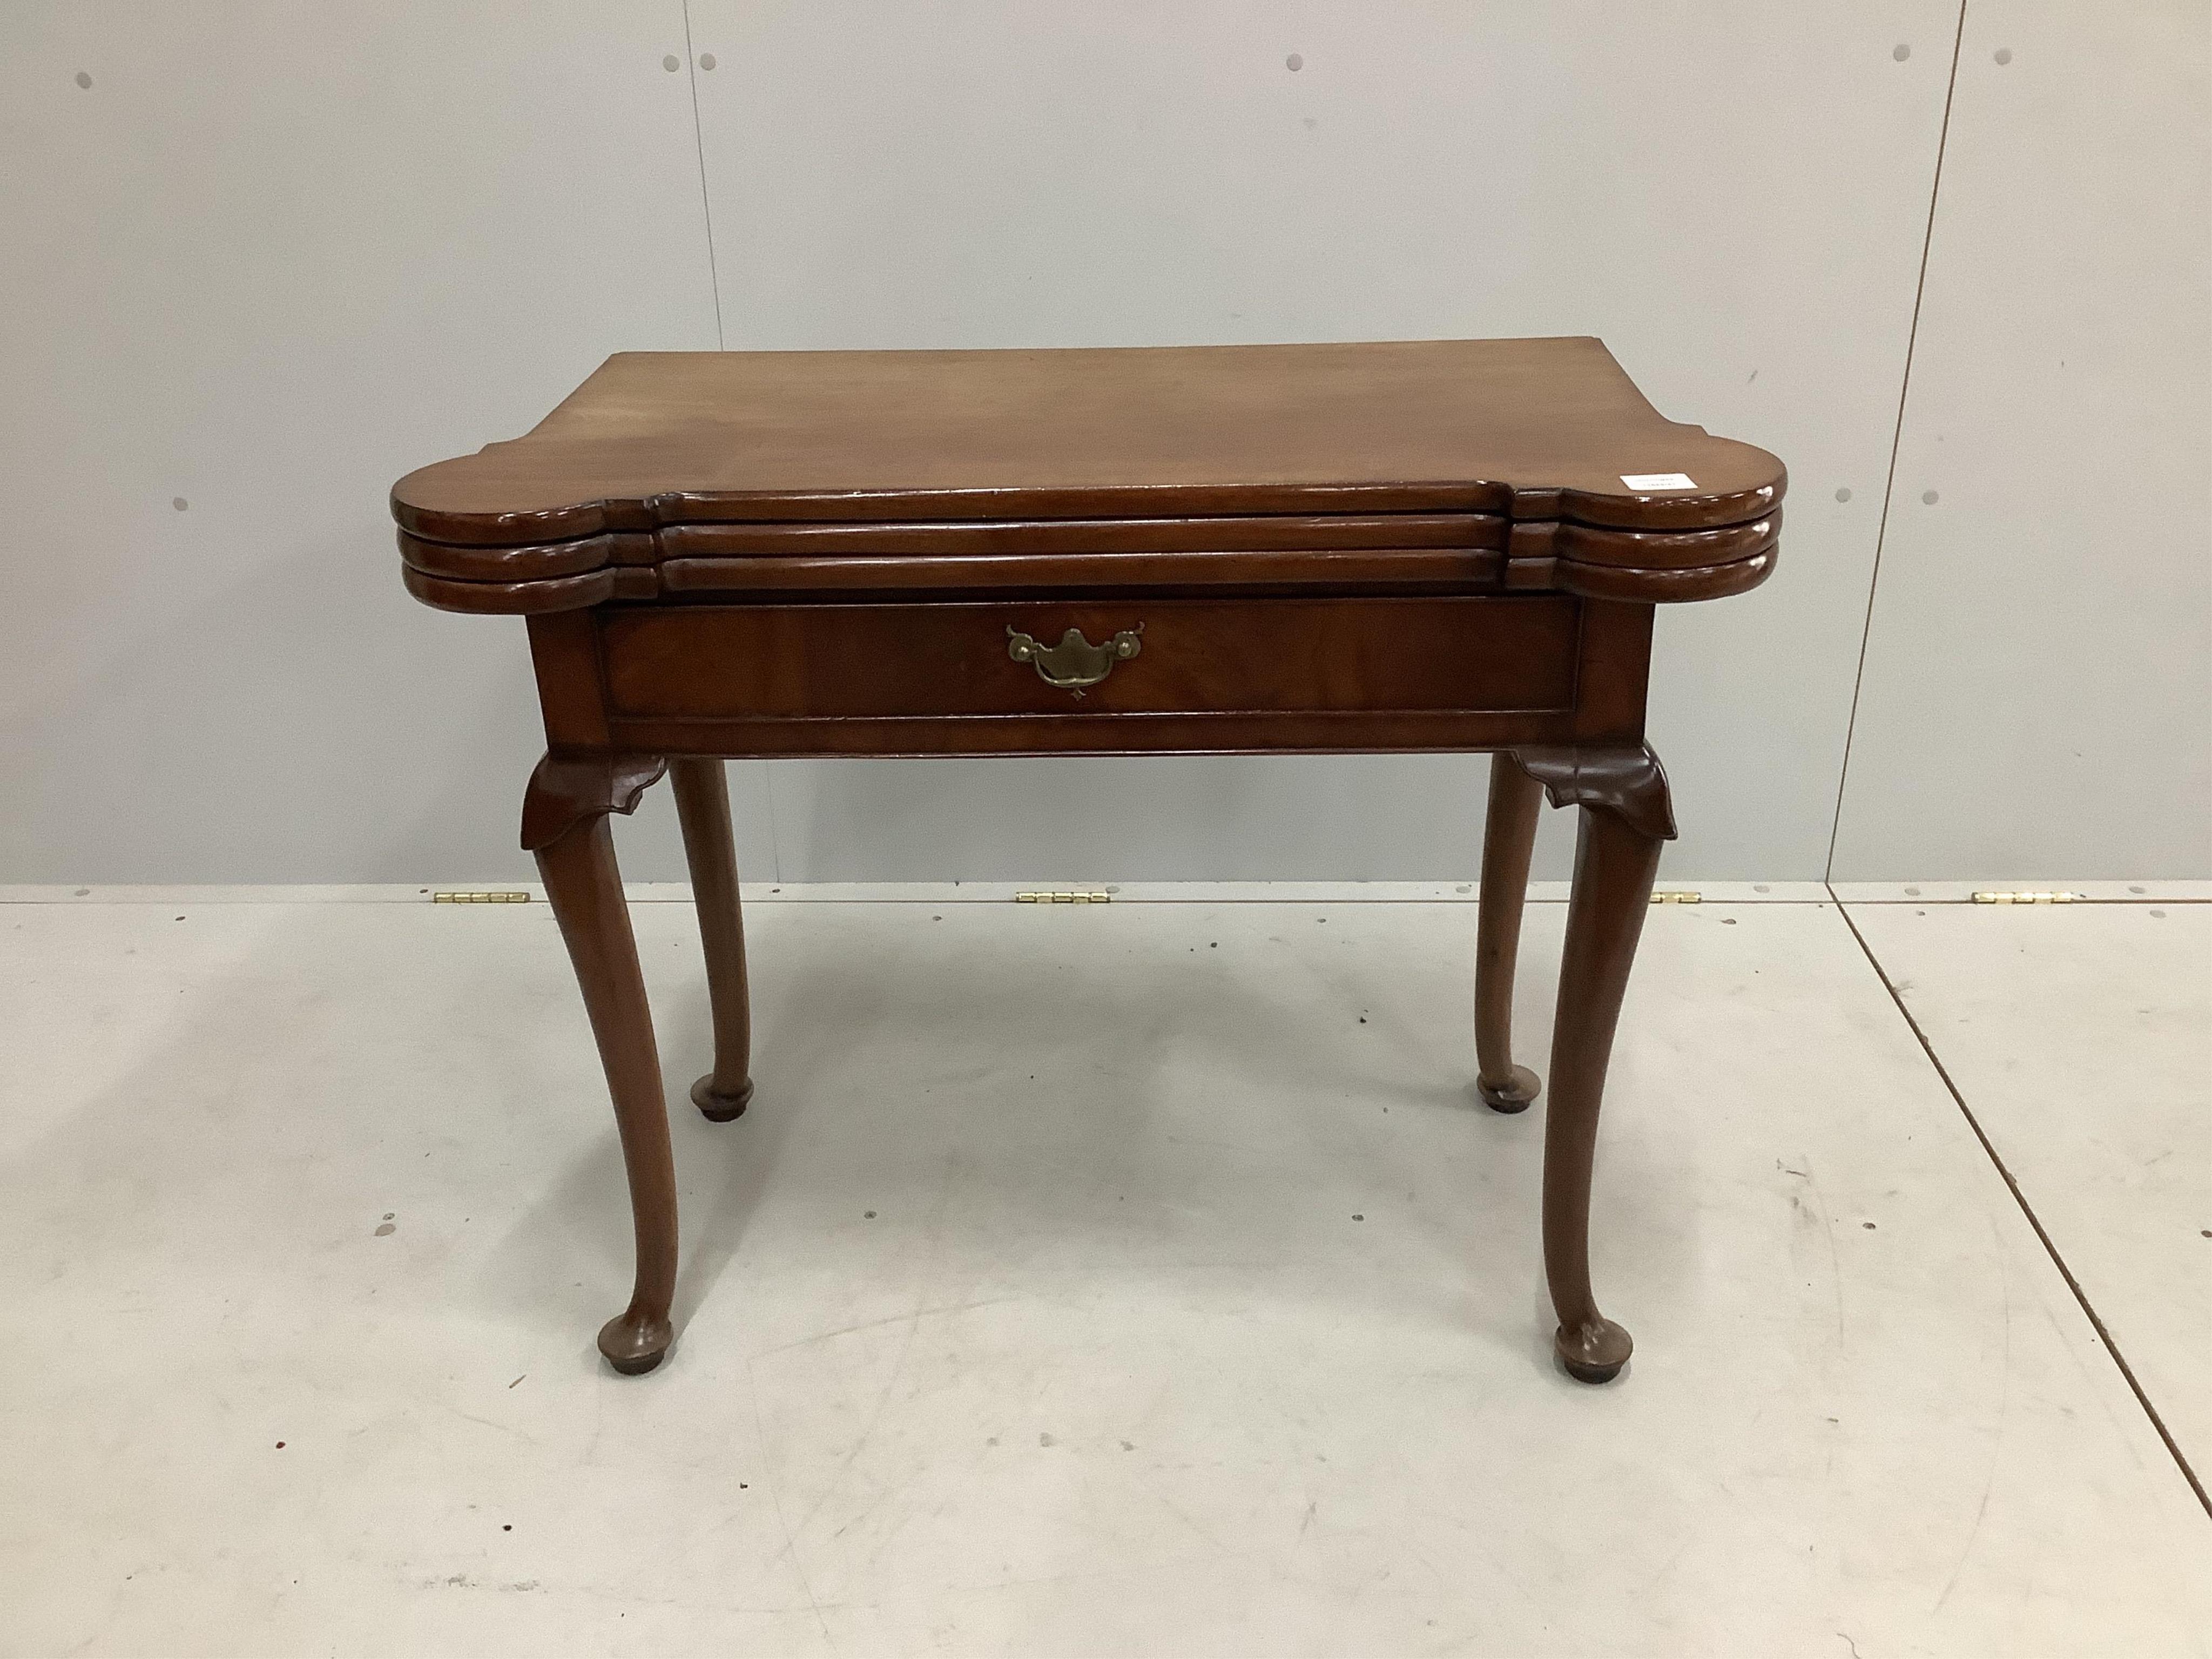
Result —
[{"label": "whole mahogany card table with four cabriole legs", "polygon": [[714,1121],[752,1099],[726,757],[1489,752],[1475,1088],[1517,1113],[1540,792],[1579,814],[1544,1124],[1564,1367],[1597,1108],[1659,843],[1652,613],[1774,568],[1783,467],[1661,418],[1595,338],[1084,352],[624,352],[392,491],[407,588],[529,622],[522,845],[575,962],[637,1225],[617,1371],[675,1336],[677,1188],[608,814],[670,774]]}]

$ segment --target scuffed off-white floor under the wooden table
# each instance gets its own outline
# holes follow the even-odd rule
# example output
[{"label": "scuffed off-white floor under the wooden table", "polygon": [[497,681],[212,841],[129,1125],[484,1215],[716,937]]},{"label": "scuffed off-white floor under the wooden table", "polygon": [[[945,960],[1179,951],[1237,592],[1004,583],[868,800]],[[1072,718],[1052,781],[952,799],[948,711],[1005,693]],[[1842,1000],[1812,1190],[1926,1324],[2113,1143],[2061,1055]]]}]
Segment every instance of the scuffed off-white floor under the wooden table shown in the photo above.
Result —
[{"label": "scuffed off-white floor under the wooden table", "polygon": [[907,894],[750,907],[728,1126],[688,907],[635,907],[639,1380],[544,905],[0,905],[0,1652],[2212,1644],[2212,1520],[1885,984],[2212,1473],[2212,905],[1655,907],[1586,1389],[1462,894]]}]

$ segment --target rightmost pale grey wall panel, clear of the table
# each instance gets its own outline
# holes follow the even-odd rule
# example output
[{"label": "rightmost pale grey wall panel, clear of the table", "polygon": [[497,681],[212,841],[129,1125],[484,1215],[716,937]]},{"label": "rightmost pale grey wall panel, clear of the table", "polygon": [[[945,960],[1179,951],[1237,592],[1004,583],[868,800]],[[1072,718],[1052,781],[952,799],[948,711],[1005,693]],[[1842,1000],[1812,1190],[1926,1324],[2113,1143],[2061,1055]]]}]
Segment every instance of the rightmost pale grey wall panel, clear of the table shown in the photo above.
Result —
[{"label": "rightmost pale grey wall panel, clear of the table", "polygon": [[2208,53],[1966,11],[1838,880],[2212,874]]}]

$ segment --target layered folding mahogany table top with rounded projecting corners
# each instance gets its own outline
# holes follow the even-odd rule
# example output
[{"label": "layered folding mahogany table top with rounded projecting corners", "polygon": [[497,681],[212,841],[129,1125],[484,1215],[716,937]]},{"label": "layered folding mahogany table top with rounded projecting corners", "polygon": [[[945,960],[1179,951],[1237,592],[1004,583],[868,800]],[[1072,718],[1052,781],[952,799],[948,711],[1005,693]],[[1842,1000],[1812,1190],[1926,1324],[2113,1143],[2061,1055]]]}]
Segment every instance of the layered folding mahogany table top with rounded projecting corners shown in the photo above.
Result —
[{"label": "layered folding mahogany table top with rounded projecting corners", "polygon": [[1783,489],[1774,456],[1666,420],[1595,338],[624,352],[526,436],[403,478],[392,513],[416,593],[469,611],[759,588],[783,566],[737,560],[799,540],[830,586],[860,580],[832,544],[911,586],[887,560],[982,535],[995,560],[1210,560],[1177,580],[1265,549],[1451,546],[1504,582],[1511,544],[1542,586],[1555,549],[1511,533],[1542,524],[1597,564],[1732,566],[1652,593],[1708,597],[1765,575]]}]

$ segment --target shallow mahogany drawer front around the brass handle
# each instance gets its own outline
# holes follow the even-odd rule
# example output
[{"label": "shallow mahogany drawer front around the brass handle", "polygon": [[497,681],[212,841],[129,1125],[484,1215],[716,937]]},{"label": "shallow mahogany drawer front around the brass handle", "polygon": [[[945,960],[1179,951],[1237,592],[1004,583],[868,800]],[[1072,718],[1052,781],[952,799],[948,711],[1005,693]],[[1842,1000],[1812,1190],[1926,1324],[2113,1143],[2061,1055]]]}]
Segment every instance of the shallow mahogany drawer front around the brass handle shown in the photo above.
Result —
[{"label": "shallow mahogany drawer front around the brass handle", "polygon": [[[1137,650],[1086,688],[1009,655],[1071,628]],[[604,613],[602,657],[622,721],[1542,712],[1577,628],[1557,595],[672,606]]]}]

